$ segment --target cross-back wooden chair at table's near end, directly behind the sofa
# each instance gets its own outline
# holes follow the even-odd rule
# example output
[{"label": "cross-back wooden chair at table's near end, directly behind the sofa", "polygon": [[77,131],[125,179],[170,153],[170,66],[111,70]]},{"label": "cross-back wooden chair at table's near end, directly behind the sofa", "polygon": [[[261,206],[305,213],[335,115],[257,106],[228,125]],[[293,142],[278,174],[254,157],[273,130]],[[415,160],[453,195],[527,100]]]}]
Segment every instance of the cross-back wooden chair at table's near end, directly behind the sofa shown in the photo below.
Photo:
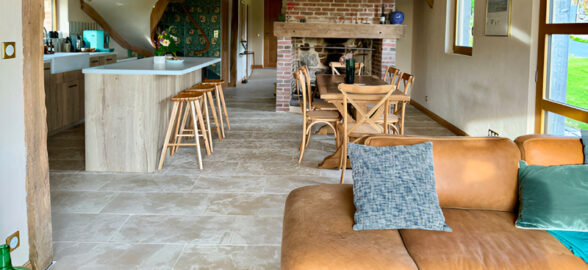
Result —
[{"label": "cross-back wooden chair at table's near end, directly behind the sofa", "polygon": [[[343,94],[343,125],[340,126],[339,138],[342,140],[341,161],[341,183],[345,177],[347,167],[347,143],[350,138],[351,142],[357,142],[365,136],[374,134],[387,134],[388,125],[378,123],[383,117],[388,121],[390,114],[390,103],[393,102],[391,96],[396,87],[391,84],[378,86],[360,86],[353,84],[340,84],[339,90]],[[347,105],[351,104],[355,108],[355,122],[352,122],[348,114]],[[375,104],[373,107],[368,105]]]}]

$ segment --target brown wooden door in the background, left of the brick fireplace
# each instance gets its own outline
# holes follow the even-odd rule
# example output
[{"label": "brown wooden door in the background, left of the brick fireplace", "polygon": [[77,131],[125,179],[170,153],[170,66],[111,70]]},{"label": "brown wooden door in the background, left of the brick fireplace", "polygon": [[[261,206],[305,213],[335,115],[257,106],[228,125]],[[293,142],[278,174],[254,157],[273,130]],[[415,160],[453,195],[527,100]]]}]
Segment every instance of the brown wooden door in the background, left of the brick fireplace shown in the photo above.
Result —
[{"label": "brown wooden door in the background, left of the brick fireplace", "polygon": [[282,11],[281,0],[264,0],[263,66],[275,68],[278,63],[278,38],[274,36],[274,22]]}]

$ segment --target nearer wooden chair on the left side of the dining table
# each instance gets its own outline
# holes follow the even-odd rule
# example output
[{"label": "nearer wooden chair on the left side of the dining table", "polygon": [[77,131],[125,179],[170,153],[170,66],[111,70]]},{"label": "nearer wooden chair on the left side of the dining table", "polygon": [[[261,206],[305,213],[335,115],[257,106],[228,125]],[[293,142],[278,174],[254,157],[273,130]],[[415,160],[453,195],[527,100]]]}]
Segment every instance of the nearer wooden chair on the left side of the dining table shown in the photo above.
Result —
[{"label": "nearer wooden chair on the left side of the dining table", "polygon": [[341,120],[341,116],[337,111],[320,111],[320,110],[312,110],[310,105],[308,104],[308,89],[306,83],[306,76],[304,72],[299,69],[294,73],[294,78],[296,79],[296,87],[299,93],[302,93],[302,99],[300,102],[300,108],[302,110],[302,140],[300,142],[300,156],[298,157],[298,164],[302,162],[302,157],[304,157],[304,150],[308,147],[308,143],[310,142],[310,136],[312,134],[312,127],[315,124],[326,124],[327,126],[333,129],[333,133],[335,134],[335,141],[337,141],[337,123]]}]

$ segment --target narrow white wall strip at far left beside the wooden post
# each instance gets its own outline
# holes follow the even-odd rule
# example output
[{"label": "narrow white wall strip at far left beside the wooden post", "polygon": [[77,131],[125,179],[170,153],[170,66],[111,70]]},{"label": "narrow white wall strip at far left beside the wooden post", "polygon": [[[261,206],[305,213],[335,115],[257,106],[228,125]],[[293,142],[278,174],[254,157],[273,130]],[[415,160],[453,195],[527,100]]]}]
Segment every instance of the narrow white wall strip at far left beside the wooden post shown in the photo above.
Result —
[{"label": "narrow white wall strip at far left beside the wooden post", "polygon": [[[20,231],[14,265],[29,259],[23,94],[22,1],[0,1],[0,42],[16,42],[16,58],[0,59],[0,242]],[[39,40],[39,42],[42,42]]]}]

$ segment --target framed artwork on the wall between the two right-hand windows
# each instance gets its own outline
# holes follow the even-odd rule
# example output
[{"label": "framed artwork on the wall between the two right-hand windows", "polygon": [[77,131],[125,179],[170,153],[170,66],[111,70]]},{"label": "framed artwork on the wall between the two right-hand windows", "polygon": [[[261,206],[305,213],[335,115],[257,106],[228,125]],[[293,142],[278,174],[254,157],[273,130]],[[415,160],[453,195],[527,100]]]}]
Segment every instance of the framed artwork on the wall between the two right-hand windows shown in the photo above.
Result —
[{"label": "framed artwork on the wall between the two right-hand windows", "polygon": [[486,35],[508,36],[510,34],[511,0],[487,0]]}]

